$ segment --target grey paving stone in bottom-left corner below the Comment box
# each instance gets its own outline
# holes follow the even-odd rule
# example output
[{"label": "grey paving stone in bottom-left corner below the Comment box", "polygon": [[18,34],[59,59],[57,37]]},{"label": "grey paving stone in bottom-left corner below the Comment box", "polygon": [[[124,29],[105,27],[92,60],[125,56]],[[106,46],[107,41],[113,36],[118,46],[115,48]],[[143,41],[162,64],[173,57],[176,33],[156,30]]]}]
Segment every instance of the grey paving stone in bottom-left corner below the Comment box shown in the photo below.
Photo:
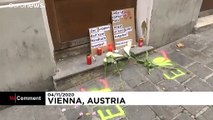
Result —
[{"label": "grey paving stone in bottom-left corner below the Comment box", "polygon": [[1,120],[66,120],[56,106],[13,106],[0,111]]}]

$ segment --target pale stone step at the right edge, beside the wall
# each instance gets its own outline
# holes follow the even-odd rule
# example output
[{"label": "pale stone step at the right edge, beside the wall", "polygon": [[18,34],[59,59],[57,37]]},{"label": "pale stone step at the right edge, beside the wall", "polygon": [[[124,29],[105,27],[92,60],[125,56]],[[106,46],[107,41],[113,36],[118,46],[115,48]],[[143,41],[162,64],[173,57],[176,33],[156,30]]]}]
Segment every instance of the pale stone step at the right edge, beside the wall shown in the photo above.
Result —
[{"label": "pale stone step at the right edge, beside the wall", "polygon": [[213,15],[198,18],[197,24],[194,26],[194,33],[200,33],[213,28]]}]

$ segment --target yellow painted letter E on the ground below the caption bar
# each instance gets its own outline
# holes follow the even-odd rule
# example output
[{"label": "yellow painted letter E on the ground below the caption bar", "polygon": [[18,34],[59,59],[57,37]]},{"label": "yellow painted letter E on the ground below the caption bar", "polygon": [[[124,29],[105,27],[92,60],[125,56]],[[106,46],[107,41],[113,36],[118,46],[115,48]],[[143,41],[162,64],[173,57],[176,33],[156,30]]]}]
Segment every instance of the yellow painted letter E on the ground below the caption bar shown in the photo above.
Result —
[{"label": "yellow painted letter E on the ground below the caption bar", "polygon": [[115,117],[125,116],[124,111],[122,110],[122,108],[119,105],[116,105],[116,108],[118,110],[118,113],[116,113],[116,114],[113,114],[109,109],[106,109],[107,116],[104,115],[102,110],[98,110],[97,112],[100,115],[101,120],[108,120],[108,119],[112,119]]}]

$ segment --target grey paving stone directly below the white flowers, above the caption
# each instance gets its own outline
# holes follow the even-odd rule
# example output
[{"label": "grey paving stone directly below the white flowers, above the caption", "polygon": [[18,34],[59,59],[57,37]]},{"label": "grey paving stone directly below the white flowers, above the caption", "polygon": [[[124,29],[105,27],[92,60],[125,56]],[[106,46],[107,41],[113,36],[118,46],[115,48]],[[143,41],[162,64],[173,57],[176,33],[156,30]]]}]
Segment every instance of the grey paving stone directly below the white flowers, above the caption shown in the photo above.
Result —
[{"label": "grey paving stone directly below the white flowers, above the caption", "polygon": [[147,81],[147,78],[141,73],[141,69],[137,65],[127,65],[126,68],[122,71],[121,75],[130,87],[134,88],[140,83]]}]

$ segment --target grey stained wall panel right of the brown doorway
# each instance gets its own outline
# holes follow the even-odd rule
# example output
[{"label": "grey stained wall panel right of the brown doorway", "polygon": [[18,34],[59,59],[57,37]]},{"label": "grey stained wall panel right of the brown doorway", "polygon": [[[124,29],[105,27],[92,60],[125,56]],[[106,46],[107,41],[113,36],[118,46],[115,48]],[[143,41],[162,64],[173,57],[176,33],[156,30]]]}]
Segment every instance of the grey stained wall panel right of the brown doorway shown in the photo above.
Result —
[{"label": "grey stained wall panel right of the brown doorway", "polygon": [[149,45],[160,47],[191,33],[202,0],[154,0]]}]

